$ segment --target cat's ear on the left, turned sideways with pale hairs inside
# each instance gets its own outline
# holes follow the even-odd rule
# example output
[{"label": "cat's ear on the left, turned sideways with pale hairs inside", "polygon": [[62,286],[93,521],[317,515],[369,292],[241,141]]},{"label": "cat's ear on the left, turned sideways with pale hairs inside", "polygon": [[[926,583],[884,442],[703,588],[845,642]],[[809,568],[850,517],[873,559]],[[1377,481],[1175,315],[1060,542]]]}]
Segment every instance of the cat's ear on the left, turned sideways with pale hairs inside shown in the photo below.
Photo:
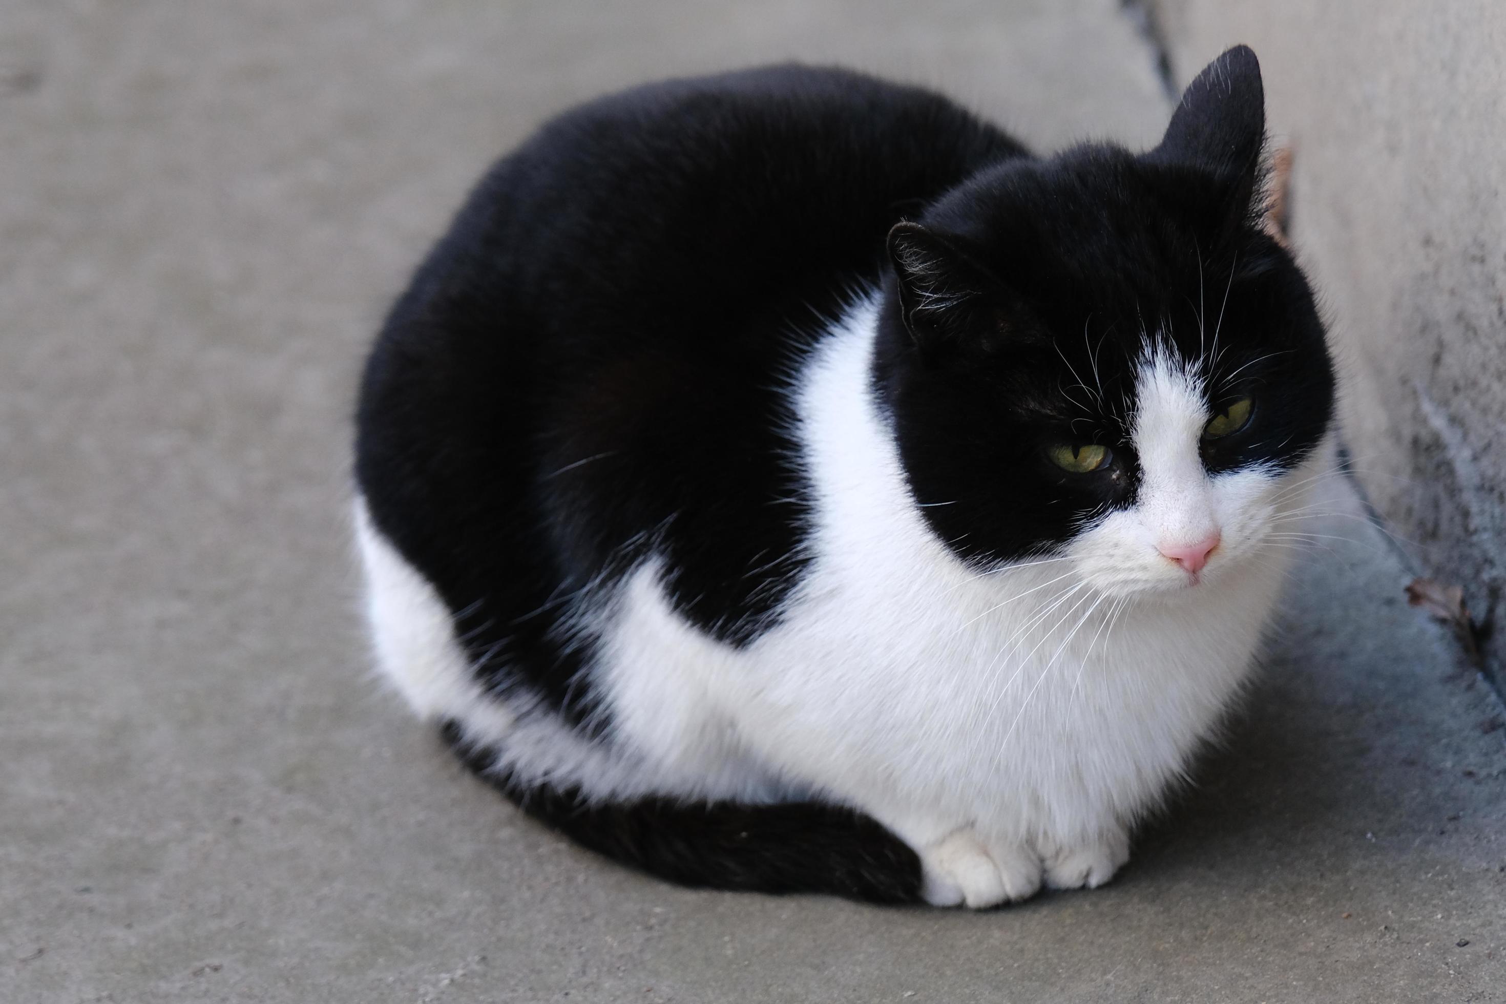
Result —
[{"label": "cat's ear on the left, turned sideways with pale hairs inside", "polygon": [[977,327],[997,283],[961,247],[919,223],[889,232],[899,310],[916,345],[934,346]]}]

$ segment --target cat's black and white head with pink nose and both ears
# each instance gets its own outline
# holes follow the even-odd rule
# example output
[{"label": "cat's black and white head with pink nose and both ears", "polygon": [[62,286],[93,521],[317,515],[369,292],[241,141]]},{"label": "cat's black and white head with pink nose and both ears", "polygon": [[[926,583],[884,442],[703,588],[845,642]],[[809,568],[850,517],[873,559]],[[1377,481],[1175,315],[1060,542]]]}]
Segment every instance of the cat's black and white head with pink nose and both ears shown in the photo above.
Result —
[{"label": "cat's black and white head with pink nose and both ears", "polygon": [[875,385],[968,561],[1065,554],[1114,595],[1238,572],[1318,447],[1333,367],[1259,227],[1261,69],[1232,48],[1161,143],[991,167],[889,236]]}]

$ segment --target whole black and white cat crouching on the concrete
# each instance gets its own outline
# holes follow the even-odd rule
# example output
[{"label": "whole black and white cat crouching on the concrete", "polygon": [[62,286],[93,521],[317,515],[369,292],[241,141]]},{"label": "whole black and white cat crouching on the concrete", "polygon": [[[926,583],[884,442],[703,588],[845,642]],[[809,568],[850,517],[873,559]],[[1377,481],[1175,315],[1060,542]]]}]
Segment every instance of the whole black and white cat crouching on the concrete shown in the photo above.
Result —
[{"label": "whole black and white cat crouching on the concrete", "polygon": [[545,125],[358,409],[380,665],[664,878],[1095,887],[1245,680],[1333,402],[1247,48],[1130,154],[833,69]]}]

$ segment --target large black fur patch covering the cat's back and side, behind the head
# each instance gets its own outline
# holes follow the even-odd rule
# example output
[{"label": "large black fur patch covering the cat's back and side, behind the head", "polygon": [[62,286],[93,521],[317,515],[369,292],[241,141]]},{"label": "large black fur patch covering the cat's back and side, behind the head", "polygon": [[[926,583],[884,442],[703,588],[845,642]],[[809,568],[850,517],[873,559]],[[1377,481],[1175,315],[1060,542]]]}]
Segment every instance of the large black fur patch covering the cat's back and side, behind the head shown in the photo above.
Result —
[{"label": "large black fur patch covering the cat's back and side, behind the head", "polygon": [[785,373],[896,220],[1023,154],[937,95],[782,66],[604,98],[498,163],[387,319],[357,420],[372,518],[488,682],[583,720],[562,601],[651,543],[702,629],[771,623],[806,533]]}]

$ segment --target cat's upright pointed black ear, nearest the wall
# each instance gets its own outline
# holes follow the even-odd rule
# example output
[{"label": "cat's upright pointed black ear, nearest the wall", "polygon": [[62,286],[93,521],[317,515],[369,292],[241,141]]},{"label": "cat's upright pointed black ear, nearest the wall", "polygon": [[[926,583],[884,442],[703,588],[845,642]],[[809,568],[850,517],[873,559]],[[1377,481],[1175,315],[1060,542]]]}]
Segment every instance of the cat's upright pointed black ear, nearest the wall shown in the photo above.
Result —
[{"label": "cat's upright pointed black ear, nearest the wall", "polygon": [[1152,164],[1193,167],[1212,175],[1229,208],[1250,209],[1265,145],[1265,86],[1248,45],[1235,45],[1187,84],[1161,145],[1145,155]]}]

